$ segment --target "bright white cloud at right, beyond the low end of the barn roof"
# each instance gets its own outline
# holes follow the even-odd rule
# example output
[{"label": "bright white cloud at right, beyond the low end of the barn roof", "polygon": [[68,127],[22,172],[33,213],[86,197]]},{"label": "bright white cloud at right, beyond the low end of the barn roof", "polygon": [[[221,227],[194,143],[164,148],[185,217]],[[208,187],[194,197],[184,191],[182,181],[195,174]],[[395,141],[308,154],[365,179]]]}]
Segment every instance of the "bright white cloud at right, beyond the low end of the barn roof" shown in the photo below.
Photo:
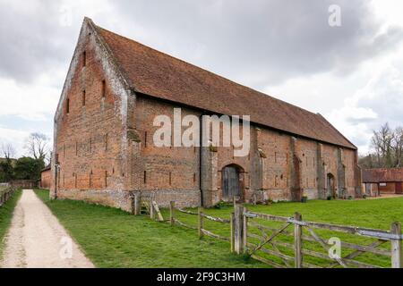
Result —
[{"label": "bright white cloud at right, beyond the low end of the barn roof", "polygon": [[326,117],[347,138],[358,145],[361,154],[369,151],[373,130],[389,122],[391,127],[403,126],[403,58],[389,58],[373,64],[373,75],[347,97],[344,106]]}]

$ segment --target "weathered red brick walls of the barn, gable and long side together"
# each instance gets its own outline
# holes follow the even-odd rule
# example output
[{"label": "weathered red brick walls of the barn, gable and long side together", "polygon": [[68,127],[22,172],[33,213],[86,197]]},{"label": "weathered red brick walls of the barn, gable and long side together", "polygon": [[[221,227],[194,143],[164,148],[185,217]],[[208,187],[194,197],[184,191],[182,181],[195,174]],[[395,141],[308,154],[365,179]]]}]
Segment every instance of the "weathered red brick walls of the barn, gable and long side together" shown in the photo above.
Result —
[{"label": "weathered red brick walls of the barn, gable and long side together", "polygon": [[155,147],[154,118],[172,117],[174,108],[182,108],[183,116],[206,112],[138,92],[98,28],[85,20],[55,115],[51,196],[129,210],[132,192],[143,197],[154,192],[161,206],[171,200],[211,206],[222,199],[228,165],[239,172],[244,201],[360,195],[354,146],[253,119],[248,156],[234,156],[233,147]]}]

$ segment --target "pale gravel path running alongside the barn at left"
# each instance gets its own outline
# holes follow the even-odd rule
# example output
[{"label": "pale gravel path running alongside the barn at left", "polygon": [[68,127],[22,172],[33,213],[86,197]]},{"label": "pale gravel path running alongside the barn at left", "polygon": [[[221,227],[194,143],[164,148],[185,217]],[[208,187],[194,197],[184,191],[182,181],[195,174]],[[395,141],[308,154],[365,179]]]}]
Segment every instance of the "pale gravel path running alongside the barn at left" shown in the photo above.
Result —
[{"label": "pale gravel path running alongside the barn at left", "polygon": [[33,190],[24,189],[5,238],[3,268],[92,268],[94,265]]}]

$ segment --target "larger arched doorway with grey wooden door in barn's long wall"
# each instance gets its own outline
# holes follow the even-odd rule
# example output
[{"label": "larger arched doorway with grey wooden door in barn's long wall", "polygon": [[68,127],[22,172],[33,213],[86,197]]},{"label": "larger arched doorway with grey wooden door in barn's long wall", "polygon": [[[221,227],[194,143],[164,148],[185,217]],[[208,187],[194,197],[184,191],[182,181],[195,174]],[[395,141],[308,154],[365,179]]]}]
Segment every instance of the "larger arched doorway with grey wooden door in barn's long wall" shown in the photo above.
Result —
[{"label": "larger arched doorway with grey wooden door in barn's long wall", "polygon": [[232,201],[234,197],[244,199],[244,170],[236,165],[225,166],[221,171],[222,200]]}]

